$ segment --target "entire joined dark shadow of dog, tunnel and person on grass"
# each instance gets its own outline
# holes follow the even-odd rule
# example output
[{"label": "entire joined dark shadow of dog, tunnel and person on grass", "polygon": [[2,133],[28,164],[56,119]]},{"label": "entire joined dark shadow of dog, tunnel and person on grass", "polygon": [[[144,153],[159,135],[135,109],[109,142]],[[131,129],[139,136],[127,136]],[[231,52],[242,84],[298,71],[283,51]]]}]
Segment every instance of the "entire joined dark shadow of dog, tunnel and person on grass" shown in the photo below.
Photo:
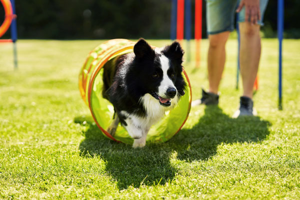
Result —
[{"label": "entire joined dark shadow of dog, tunnel and person on grass", "polygon": [[125,189],[172,181],[178,172],[170,161],[174,152],[180,160],[205,160],[221,143],[259,142],[269,134],[270,123],[259,117],[232,119],[217,106],[206,106],[204,112],[192,128],[180,130],[169,141],[138,149],[107,139],[92,118],[76,117],[75,122],[86,121],[87,126],[79,149],[82,156],[100,156],[118,188]]}]

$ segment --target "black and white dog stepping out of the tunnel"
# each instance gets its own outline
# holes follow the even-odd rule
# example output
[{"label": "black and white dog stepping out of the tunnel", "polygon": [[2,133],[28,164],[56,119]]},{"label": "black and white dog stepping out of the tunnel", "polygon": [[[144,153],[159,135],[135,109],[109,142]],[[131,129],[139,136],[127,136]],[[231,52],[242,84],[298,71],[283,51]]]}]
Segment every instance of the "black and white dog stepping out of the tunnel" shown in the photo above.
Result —
[{"label": "black and white dog stepping out of the tunnel", "polygon": [[132,53],[105,63],[102,95],[114,106],[114,120],[107,132],[113,136],[120,122],[134,139],[133,147],[145,145],[151,125],[184,95],[182,56],[176,41],[153,49],[141,38]]}]

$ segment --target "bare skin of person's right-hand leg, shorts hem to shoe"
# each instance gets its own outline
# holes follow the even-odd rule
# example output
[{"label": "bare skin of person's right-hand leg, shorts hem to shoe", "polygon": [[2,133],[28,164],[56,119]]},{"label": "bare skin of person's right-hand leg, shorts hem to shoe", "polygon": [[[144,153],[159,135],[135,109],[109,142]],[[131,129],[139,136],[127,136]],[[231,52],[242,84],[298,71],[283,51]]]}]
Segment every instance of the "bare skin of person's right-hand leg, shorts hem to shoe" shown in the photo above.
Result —
[{"label": "bare skin of person's right-hand leg, shorts hem to shoe", "polygon": [[253,85],[257,75],[261,52],[260,26],[249,22],[239,23],[240,50],[239,63],[242,78],[243,96],[252,98]]}]

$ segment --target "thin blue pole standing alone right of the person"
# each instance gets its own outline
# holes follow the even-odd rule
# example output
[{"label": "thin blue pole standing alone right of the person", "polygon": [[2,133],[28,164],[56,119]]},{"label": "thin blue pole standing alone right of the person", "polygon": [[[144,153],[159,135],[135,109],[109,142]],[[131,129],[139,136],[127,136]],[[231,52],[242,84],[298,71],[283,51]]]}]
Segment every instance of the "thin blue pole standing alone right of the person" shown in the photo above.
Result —
[{"label": "thin blue pole standing alone right of the person", "polygon": [[282,110],[282,39],[283,39],[283,9],[284,9],[284,0],[278,0],[277,3],[277,36],[279,43],[279,77],[278,77],[278,109]]}]

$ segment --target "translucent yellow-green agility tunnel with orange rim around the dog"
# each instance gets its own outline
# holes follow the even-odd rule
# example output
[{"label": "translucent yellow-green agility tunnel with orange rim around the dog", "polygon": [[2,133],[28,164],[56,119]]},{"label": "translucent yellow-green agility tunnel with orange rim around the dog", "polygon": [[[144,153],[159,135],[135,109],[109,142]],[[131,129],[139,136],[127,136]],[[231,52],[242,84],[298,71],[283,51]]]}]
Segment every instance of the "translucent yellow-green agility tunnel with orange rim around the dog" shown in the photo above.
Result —
[{"label": "translucent yellow-green agility tunnel with orange rim around the dog", "polygon": [[[103,65],[113,57],[133,52],[135,42],[127,39],[111,39],[105,41],[89,52],[79,73],[79,90],[81,97],[89,107],[96,125],[102,133],[115,141],[128,144],[133,143],[126,129],[118,125],[115,135],[110,135],[106,129],[113,119],[113,105],[102,97],[102,74]],[[177,106],[165,113],[159,122],[152,125],[146,141],[164,142],[175,135],[185,123],[191,104],[191,86],[188,76],[182,70],[186,82],[185,95],[181,96]]]}]

